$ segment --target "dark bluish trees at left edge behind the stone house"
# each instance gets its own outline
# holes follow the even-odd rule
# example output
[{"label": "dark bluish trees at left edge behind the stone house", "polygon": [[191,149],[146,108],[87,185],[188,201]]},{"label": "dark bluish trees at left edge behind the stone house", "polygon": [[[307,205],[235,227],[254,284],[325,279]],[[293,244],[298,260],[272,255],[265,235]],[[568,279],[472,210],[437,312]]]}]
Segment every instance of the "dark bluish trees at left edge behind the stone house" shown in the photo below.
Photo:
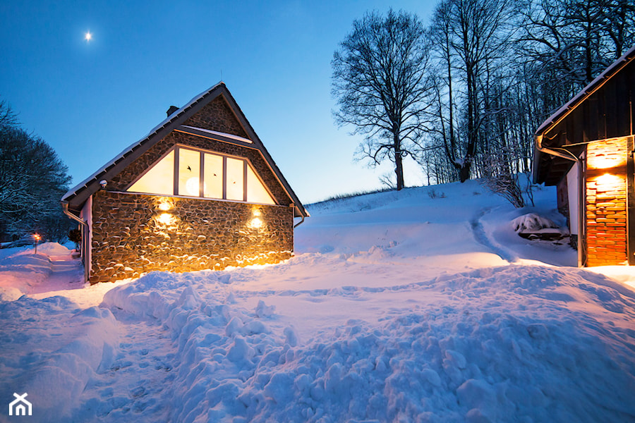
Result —
[{"label": "dark bluish trees at left edge behind the stone house", "polygon": [[20,127],[6,102],[0,102],[0,241],[38,233],[59,241],[74,226],[63,215],[62,195],[71,178],[56,152]]}]

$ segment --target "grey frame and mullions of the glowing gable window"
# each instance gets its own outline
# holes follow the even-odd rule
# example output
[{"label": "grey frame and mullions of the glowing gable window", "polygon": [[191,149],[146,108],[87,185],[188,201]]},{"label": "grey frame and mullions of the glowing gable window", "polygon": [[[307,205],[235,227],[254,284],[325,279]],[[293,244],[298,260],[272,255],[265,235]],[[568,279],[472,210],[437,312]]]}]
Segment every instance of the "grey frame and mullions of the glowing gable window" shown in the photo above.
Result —
[{"label": "grey frame and mullions of the glowing gable window", "polygon": [[[180,160],[179,150],[180,149],[187,149],[187,150],[191,150],[191,151],[195,151],[195,152],[199,152],[200,153],[200,164],[199,164],[199,174],[198,174],[198,184],[199,184],[198,195],[183,195],[183,194],[179,194],[179,160]],[[155,193],[152,193],[152,192],[129,191],[131,186],[135,185],[135,183],[137,183],[138,180],[143,178],[152,168],[155,167],[155,165],[157,163],[159,163],[159,161],[162,161],[163,159],[165,159],[171,152],[174,152],[174,169],[172,171],[172,173],[173,173],[173,175],[172,175],[173,176],[173,181],[172,181],[173,191],[172,192],[173,193],[171,195],[155,194]],[[222,198],[205,197],[205,154],[211,154],[211,155],[214,155],[214,156],[222,157],[222,173],[223,173],[222,174],[222,196],[223,196]],[[243,162],[243,200],[231,200],[231,199],[227,198],[227,159],[237,159],[237,160]],[[247,192],[247,190],[248,190],[248,166],[251,166],[251,170],[253,171],[255,177],[258,178],[258,181],[260,182],[262,187],[265,188],[265,191],[271,197],[271,200],[272,200],[273,204],[247,201],[247,198],[248,198],[248,192]],[[167,197],[195,198],[195,199],[198,199],[198,200],[215,200],[215,201],[229,201],[229,202],[245,202],[245,203],[250,203],[250,204],[279,205],[278,202],[276,201],[274,195],[272,194],[271,190],[269,189],[269,187],[267,187],[267,184],[264,183],[262,178],[260,178],[260,175],[258,174],[258,171],[256,171],[256,169],[254,168],[254,166],[251,163],[250,159],[248,159],[247,157],[234,156],[232,154],[224,154],[224,153],[214,152],[212,150],[201,149],[201,148],[191,147],[191,146],[188,146],[188,145],[181,145],[181,144],[174,145],[167,152],[162,154],[161,157],[159,157],[159,159],[155,160],[152,163],[151,166],[149,166],[147,169],[145,169],[145,171],[143,171],[143,173],[141,173],[137,178],[135,178],[131,183],[129,183],[126,186],[126,190],[125,191],[126,192],[135,193],[135,194],[162,195],[162,196],[167,196]]]}]

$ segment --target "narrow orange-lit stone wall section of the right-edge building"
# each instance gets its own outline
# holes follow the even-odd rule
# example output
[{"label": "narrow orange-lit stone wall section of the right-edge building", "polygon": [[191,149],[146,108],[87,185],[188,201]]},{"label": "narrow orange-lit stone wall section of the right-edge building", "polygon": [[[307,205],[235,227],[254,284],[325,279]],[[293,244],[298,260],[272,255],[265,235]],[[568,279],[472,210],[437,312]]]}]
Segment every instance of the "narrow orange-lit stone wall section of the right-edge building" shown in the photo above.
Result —
[{"label": "narrow orange-lit stone wall section of the right-edge building", "polygon": [[586,149],[587,266],[628,264],[627,138]]}]

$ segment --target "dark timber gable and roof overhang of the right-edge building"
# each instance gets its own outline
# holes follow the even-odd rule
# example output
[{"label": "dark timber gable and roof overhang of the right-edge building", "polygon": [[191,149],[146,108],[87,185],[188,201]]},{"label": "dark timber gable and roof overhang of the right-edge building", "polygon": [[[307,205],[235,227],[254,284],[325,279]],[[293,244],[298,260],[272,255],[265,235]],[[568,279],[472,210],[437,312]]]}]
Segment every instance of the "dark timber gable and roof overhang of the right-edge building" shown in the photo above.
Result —
[{"label": "dark timber gable and roof overhang of the right-edge building", "polygon": [[566,149],[579,157],[586,143],[633,135],[635,109],[635,46],[555,111],[536,130],[533,180],[555,185],[573,161],[540,152]]}]

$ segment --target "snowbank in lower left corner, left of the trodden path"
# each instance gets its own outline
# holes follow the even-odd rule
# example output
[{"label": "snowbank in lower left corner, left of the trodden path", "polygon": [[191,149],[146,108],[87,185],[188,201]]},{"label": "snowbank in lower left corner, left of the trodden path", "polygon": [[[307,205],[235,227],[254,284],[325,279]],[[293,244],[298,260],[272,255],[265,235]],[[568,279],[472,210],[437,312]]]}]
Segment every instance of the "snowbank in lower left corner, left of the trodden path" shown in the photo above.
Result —
[{"label": "snowbank in lower left corner, left of the trodden path", "polygon": [[108,309],[78,309],[63,297],[0,302],[0,322],[0,398],[28,393],[35,422],[68,422],[119,344]]}]

